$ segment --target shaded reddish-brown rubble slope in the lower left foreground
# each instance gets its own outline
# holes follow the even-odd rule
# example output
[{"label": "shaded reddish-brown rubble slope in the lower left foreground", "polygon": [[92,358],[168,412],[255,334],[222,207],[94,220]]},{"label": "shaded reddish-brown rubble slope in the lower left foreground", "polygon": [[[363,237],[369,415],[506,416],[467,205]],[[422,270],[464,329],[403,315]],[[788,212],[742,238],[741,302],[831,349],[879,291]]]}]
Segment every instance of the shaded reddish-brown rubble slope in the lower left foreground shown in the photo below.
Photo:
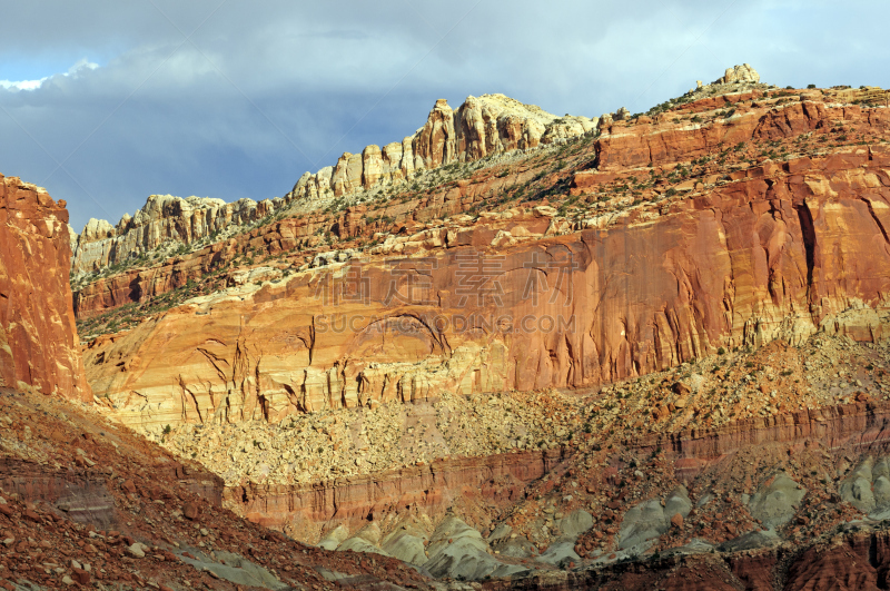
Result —
[{"label": "shaded reddish-brown rubble slope in the lower left foreground", "polygon": [[2,589],[429,588],[238,518],[218,476],[89,408],[0,388],[0,413]]}]

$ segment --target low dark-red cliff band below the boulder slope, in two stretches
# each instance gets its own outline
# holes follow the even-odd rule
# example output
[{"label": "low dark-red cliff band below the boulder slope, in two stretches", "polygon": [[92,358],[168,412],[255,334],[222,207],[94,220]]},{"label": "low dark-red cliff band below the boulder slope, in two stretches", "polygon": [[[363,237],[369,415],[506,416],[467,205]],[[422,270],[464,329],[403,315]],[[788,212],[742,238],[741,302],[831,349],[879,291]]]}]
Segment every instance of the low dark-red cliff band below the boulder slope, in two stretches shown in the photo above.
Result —
[{"label": "low dark-red cliff band below the boulder slope, in two stretches", "polygon": [[[890,449],[890,403],[858,403],[730,423],[721,429],[647,435],[622,446],[641,457],[665,450],[671,472],[690,484],[741,450],[765,446],[831,450],[851,457],[880,456]],[[487,457],[436,460],[429,464],[312,484],[248,482],[225,491],[226,506],[250,521],[316,542],[319,531],[345,524],[350,531],[369,520],[423,513],[434,521],[454,506],[473,514],[479,506],[504,510],[534,496],[530,485],[562,466],[580,465],[582,447]],[[728,460],[730,459],[730,460]],[[580,477],[580,476],[578,476]],[[551,486],[552,487],[552,486]],[[540,491],[538,491],[540,492]]]}]

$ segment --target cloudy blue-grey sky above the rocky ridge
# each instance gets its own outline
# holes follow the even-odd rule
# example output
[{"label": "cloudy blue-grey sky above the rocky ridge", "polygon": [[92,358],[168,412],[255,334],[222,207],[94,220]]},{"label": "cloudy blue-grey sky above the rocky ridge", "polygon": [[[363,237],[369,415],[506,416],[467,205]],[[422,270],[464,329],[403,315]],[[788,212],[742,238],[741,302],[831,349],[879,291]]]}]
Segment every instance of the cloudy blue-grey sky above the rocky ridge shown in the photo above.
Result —
[{"label": "cloudy blue-grey sky above the rocky ridge", "polygon": [[3,2],[0,174],[79,232],[152,194],[280,197],[436,99],[644,111],[736,63],[779,86],[890,86],[890,2]]}]

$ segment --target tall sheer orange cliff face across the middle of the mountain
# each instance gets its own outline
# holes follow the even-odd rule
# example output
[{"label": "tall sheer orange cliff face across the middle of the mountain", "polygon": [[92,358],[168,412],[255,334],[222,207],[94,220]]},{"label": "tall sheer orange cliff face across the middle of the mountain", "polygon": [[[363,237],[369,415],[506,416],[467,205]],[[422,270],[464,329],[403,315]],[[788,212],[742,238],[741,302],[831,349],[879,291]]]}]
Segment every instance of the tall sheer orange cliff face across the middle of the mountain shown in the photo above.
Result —
[{"label": "tall sheer orange cliff face across the middle of the mountain", "polygon": [[159,430],[595,386],[820,328],[882,338],[889,166],[877,148],[765,165],[552,237],[552,208],[425,230],[422,258],[247,285],[97,338],[87,372],[122,421]]}]

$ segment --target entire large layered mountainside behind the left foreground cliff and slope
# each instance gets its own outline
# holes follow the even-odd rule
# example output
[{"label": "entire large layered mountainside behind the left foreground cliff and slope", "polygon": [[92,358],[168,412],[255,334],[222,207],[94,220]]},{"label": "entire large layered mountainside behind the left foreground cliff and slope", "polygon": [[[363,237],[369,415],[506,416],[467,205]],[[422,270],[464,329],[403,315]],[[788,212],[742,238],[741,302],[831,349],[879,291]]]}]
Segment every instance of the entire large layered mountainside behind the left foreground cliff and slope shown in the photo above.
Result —
[{"label": "entire large layered mountainside behind the left foreground cliff and slope", "polygon": [[455,589],[880,588],[887,99],[745,65],[565,141],[437,104],[80,285],[97,412],[253,522]]}]

